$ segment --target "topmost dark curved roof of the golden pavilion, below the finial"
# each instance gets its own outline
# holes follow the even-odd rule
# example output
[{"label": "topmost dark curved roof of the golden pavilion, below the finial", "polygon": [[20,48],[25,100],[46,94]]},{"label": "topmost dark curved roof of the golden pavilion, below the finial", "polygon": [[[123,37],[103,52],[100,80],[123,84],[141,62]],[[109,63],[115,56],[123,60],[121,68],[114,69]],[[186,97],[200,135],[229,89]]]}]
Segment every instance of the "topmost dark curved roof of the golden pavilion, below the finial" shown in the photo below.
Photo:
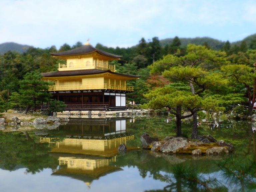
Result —
[{"label": "topmost dark curved roof of the golden pavilion, below the finial", "polygon": [[77,47],[75,49],[71,49],[68,51],[63,51],[63,52],[58,52],[58,53],[51,53],[52,56],[68,56],[68,55],[84,55],[84,54],[89,54],[93,52],[98,52],[102,55],[108,56],[108,57],[113,57],[113,58],[121,58],[121,55],[115,55],[112,53],[108,53],[105,51],[101,51],[99,49],[94,48],[90,44],[83,45],[81,47]]}]

